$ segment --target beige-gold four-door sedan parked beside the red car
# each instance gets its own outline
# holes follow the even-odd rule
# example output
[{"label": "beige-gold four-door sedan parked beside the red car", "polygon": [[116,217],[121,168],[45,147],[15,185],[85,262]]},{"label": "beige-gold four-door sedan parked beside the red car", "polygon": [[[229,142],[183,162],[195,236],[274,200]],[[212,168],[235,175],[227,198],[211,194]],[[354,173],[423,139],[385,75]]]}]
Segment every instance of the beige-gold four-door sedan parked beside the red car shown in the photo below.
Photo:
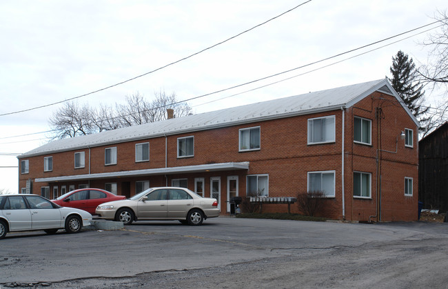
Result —
[{"label": "beige-gold four-door sedan parked beside the red car", "polygon": [[218,201],[186,188],[149,188],[130,199],[109,201],[96,208],[101,219],[129,225],[136,220],[179,220],[192,226],[219,216]]}]

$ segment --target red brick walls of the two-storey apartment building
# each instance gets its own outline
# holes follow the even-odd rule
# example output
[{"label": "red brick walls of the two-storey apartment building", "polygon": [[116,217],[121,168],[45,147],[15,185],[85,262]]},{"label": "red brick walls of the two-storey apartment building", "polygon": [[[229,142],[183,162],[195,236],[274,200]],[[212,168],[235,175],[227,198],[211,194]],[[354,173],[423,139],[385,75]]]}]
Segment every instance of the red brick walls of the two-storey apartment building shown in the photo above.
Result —
[{"label": "red brick walls of the two-storey apartment building", "polygon": [[[376,118],[376,110],[383,111],[380,121]],[[336,142],[318,145],[307,145],[307,119],[335,115]],[[105,183],[116,182],[121,195],[121,185],[130,183],[131,195],[135,192],[135,181],[150,181],[150,186],[168,186],[172,179],[188,179],[188,187],[194,190],[194,178],[205,178],[205,197],[210,197],[210,177],[221,177],[221,212],[226,212],[227,176],[238,176],[239,195],[245,195],[246,175],[269,175],[270,197],[295,197],[298,192],[307,190],[307,172],[320,170],[335,171],[336,197],[325,199],[325,210],[321,215],[332,219],[354,221],[377,221],[377,188],[381,186],[381,221],[405,220],[417,218],[418,204],[418,139],[414,122],[401,108],[394,97],[378,92],[356,103],[345,110],[345,216],[343,216],[342,187],[342,126],[343,111],[321,112],[311,115],[275,119],[249,123],[227,128],[216,128],[185,134],[170,135],[167,143],[167,167],[194,166],[207,163],[225,163],[249,161],[250,169],[232,172],[203,172],[186,175],[132,177],[119,179],[99,179],[90,181],[91,187],[104,188]],[[371,119],[371,146],[353,141],[354,116]],[[380,124],[380,129],[378,125]],[[238,152],[238,130],[260,126],[261,149],[250,152]],[[399,135],[405,128],[414,130],[414,148],[405,148],[404,140]],[[378,132],[380,138],[378,138]],[[194,136],[194,157],[177,158],[177,139]],[[398,137],[398,139],[397,139]],[[135,144],[149,141],[150,161],[135,162]],[[104,165],[104,150],[112,146],[99,146],[83,150],[85,152],[85,168],[74,169],[74,150],[53,154],[53,171],[43,172],[43,157],[30,157],[30,173],[20,175],[21,188],[26,186],[26,179],[58,177],[64,175],[84,175],[89,172],[116,172],[125,170],[141,170],[165,167],[165,137],[116,143],[117,163]],[[377,150],[380,160],[377,168]],[[398,149],[397,149],[398,148]],[[396,151],[396,153],[395,153]],[[90,157],[89,157],[90,155]],[[381,182],[377,170],[381,170]],[[371,173],[371,198],[353,197],[353,171]],[[404,178],[414,178],[414,195],[404,196]],[[88,183],[88,181],[61,182],[52,186],[68,186],[70,184]],[[34,183],[34,193],[39,194],[41,186],[46,183]],[[76,187],[77,188],[77,187]],[[286,205],[263,206],[263,211],[286,212]],[[298,212],[298,206],[292,205],[292,211]]]}]

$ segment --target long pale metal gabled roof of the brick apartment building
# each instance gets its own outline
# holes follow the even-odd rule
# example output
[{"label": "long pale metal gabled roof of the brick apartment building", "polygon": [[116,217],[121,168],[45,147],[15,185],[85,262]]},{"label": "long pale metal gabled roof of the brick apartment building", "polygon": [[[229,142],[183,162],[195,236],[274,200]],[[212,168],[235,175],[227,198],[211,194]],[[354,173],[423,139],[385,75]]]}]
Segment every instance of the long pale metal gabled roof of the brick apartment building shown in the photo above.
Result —
[{"label": "long pale metal gabled roof of the brick apartment building", "polygon": [[[201,114],[192,114],[186,117],[167,119],[153,123],[145,123],[139,126],[119,128],[96,134],[83,135],[52,141],[39,148],[30,150],[18,158],[32,157],[34,155],[47,155],[66,150],[80,150],[94,146],[105,146],[112,143],[133,141],[138,139],[150,139],[170,134],[208,130],[224,126],[234,126],[241,123],[251,123],[268,119],[279,119],[301,114],[311,114],[338,108],[349,108],[355,103],[367,97],[372,92],[380,90],[394,95],[400,103],[400,97],[391,87],[387,79],[358,83],[352,86],[343,86],[318,92],[252,103],[245,106],[226,108]],[[402,103],[403,108],[419,126],[416,118]]]}]

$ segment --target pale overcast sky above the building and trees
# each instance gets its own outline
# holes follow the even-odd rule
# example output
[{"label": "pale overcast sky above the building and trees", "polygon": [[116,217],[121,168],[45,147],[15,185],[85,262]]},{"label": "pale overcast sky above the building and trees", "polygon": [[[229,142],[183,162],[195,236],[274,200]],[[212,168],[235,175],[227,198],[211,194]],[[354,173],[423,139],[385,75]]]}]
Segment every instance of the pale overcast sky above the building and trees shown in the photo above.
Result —
[{"label": "pale overcast sky above the building and trees", "polygon": [[[234,37],[219,46],[78,103],[124,103],[139,92],[198,97],[305,66],[434,21],[446,0],[0,1],[0,114],[112,86]],[[425,29],[435,28],[429,26]],[[248,86],[189,101],[194,113],[383,79],[403,50],[425,63],[425,29]],[[435,32],[431,30],[430,32]],[[418,32],[423,32],[409,39]],[[398,41],[405,39],[403,41]],[[397,43],[393,43],[398,41]],[[387,44],[393,43],[384,48]],[[372,52],[367,52],[379,48]],[[357,54],[367,52],[359,57]],[[349,57],[352,59],[342,61]],[[322,66],[342,61],[334,66]],[[312,71],[316,70],[316,71]],[[307,73],[308,72],[308,73]],[[305,74],[303,74],[305,73]],[[298,77],[296,75],[303,74]],[[265,88],[275,81],[281,81]],[[233,94],[238,94],[230,97]],[[427,93],[428,104],[438,99]],[[18,191],[17,157],[45,143],[62,105],[0,116],[0,189]],[[18,135],[30,134],[26,137]]]}]

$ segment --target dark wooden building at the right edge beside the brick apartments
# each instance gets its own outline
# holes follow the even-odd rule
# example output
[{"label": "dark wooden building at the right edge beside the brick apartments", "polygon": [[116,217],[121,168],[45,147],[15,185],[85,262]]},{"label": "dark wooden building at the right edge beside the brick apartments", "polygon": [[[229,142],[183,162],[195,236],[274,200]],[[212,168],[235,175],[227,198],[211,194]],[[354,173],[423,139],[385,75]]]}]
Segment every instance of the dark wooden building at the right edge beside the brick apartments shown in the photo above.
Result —
[{"label": "dark wooden building at the right edge beside the brick apartments", "polygon": [[448,122],[418,142],[418,199],[423,208],[448,211]]}]

